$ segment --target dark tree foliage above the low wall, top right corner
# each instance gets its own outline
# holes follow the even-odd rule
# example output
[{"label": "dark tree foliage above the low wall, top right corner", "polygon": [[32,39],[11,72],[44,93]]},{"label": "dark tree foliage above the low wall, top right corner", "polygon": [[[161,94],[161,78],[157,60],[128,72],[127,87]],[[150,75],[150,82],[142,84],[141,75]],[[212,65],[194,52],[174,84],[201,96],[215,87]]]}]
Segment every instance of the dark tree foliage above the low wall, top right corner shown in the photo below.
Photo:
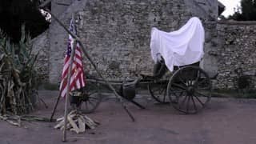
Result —
[{"label": "dark tree foliage above the low wall, top right corner", "polygon": [[228,19],[237,21],[256,21],[256,1],[242,0],[241,7],[239,7]]}]

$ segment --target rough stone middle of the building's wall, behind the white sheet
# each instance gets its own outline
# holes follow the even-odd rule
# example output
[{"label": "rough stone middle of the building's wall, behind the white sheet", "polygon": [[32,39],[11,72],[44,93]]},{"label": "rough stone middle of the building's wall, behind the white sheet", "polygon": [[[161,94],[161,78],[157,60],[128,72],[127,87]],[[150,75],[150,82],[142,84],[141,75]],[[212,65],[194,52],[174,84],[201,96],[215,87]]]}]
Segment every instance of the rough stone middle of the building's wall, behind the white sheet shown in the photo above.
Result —
[{"label": "rough stone middle of the building's wall, behind the white sheet", "polygon": [[[165,31],[178,30],[189,18],[198,16],[206,27],[209,39],[206,43],[210,49],[209,43],[214,39],[211,30],[216,32],[216,15],[210,9],[217,10],[217,1],[216,6],[199,12],[190,9],[194,3],[197,2],[88,0],[77,14],[78,35],[106,78],[123,79],[134,78],[141,73],[151,74],[154,64],[150,55],[152,27]],[[95,75],[90,63],[85,62],[87,74]]]}]

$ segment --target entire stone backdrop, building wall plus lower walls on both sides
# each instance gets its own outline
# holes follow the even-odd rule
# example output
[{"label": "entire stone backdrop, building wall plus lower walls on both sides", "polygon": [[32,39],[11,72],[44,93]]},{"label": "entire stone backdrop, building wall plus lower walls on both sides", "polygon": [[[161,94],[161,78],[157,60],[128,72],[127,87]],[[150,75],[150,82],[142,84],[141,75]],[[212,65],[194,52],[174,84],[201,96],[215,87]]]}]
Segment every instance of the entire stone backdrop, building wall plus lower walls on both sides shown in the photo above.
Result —
[{"label": "entire stone backdrop, building wall plus lower walls on both sides", "polygon": [[[65,4],[65,5],[64,5]],[[108,79],[150,74],[150,29],[178,30],[192,16],[202,19],[206,30],[202,67],[218,73],[214,87],[236,88],[238,79],[250,78],[255,87],[256,22],[218,22],[217,1],[211,0],[54,0],[55,14],[69,26],[75,14],[78,36],[99,70]],[[34,39],[42,50],[38,70],[44,81],[60,81],[67,44],[66,31],[53,20],[50,30]],[[96,75],[84,58],[86,74]],[[242,70],[242,74],[238,71]]]}]

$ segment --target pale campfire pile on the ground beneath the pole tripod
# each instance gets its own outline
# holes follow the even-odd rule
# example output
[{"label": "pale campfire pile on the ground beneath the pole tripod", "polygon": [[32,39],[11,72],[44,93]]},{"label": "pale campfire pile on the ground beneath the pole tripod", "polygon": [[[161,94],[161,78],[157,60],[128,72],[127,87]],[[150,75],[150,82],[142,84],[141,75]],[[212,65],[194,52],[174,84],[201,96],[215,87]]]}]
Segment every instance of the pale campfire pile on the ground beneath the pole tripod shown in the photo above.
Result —
[{"label": "pale campfire pile on the ground beneath the pole tripod", "polygon": [[[55,129],[64,130],[64,117],[57,119],[58,124],[54,126]],[[73,110],[67,115],[66,129],[76,132],[77,134],[83,133],[86,129],[95,129],[99,122],[78,113]]]}]

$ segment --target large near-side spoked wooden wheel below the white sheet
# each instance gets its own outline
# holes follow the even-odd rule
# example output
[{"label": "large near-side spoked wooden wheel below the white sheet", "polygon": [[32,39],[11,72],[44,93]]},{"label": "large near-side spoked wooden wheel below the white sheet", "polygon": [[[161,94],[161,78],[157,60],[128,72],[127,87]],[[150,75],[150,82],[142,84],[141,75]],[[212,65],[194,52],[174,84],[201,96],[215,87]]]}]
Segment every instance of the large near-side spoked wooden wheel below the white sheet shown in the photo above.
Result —
[{"label": "large near-side spoked wooden wheel below the white sheet", "polygon": [[197,66],[185,66],[175,71],[167,86],[172,106],[185,114],[196,114],[211,97],[208,74]]}]

